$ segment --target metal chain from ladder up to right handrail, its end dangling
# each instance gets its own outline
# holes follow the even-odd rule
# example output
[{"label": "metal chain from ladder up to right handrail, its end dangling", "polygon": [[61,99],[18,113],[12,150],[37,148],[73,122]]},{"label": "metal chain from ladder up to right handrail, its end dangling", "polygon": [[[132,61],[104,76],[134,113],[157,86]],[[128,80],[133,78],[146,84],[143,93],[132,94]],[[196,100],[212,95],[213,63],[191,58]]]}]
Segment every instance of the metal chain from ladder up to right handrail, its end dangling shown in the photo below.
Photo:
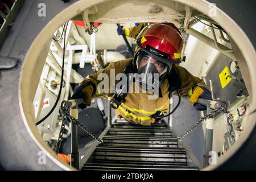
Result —
[{"label": "metal chain from ladder up to right handrail, its end dangling", "polygon": [[226,110],[225,107],[220,107],[220,109],[214,109],[212,110],[210,113],[205,114],[203,117],[201,117],[201,119],[199,121],[197,121],[190,129],[188,129],[188,131],[186,131],[183,135],[181,135],[180,137],[177,137],[177,139],[181,140],[184,137],[186,137],[189,133],[191,133],[191,131],[193,131],[202,121],[204,121],[204,119],[208,118],[210,115],[217,113],[218,111],[220,111],[222,114],[226,114],[226,119],[228,122],[228,126],[229,126],[229,133],[230,136],[232,137],[233,143],[236,142],[236,133],[234,133],[234,129],[232,126],[232,118],[230,117],[230,111]]}]

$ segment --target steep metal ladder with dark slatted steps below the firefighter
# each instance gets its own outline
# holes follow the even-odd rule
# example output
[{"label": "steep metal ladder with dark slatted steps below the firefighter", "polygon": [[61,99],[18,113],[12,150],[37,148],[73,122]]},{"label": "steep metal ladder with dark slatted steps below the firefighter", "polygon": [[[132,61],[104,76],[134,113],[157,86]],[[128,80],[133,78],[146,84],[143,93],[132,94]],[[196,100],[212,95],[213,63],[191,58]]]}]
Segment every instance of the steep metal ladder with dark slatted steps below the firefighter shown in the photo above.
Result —
[{"label": "steep metal ladder with dark slatted steps below the firefighter", "polygon": [[163,121],[139,126],[117,119],[82,170],[199,170]]}]

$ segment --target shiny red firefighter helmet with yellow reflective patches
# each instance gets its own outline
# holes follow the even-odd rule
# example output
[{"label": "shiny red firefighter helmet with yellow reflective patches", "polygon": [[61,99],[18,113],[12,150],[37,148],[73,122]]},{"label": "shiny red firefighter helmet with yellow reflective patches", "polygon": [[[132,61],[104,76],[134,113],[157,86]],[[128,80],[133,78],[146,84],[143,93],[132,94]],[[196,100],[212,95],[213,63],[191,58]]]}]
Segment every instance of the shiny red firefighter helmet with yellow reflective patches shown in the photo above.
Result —
[{"label": "shiny red firefighter helmet with yellow reflective patches", "polygon": [[172,23],[150,24],[143,28],[136,40],[142,51],[167,64],[169,71],[172,63],[181,62],[184,40]]}]

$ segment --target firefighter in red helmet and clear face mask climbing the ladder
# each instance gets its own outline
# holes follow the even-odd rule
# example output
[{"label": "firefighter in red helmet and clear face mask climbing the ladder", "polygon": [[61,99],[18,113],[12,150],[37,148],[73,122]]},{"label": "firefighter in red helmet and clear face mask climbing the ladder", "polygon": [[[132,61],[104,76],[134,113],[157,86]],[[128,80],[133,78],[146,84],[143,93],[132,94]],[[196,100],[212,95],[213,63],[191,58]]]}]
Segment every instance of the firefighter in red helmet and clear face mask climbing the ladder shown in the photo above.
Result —
[{"label": "firefighter in red helmet and clear face mask climbing the ladder", "polygon": [[[127,83],[129,88],[133,88],[133,92],[129,90],[121,105],[115,110],[118,116],[127,121],[150,126],[154,123],[154,116],[157,113],[169,113],[169,93],[174,90],[178,90],[181,96],[191,95],[189,101],[197,110],[206,109],[205,106],[196,103],[199,97],[212,98],[204,81],[177,65],[181,61],[180,54],[184,43],[174,24],[151,24],[137,36],[137,44],[139,49],[133,58],[110,63],[107,68],[86,77],[72,98],[83,97],[84,107],[90,104],[92,98],[113,98],[114,93],[110,92],[110,88],[118,83],[115,76],[128,70],[129,73],[137,73],[142,77],[139,84],[134,80]],[[114,78],[111,77],[113,70]],[[98,76],[101,73],[110,78],[108,92],[99,93],[98,85],[102,79],[98,80]],[[153,76],[151,82],[147,82],[148,74],[157,74],[158,79]],[[156,89],[159,92],[157,97],[154,97],[155,93],[150,91]]]}]

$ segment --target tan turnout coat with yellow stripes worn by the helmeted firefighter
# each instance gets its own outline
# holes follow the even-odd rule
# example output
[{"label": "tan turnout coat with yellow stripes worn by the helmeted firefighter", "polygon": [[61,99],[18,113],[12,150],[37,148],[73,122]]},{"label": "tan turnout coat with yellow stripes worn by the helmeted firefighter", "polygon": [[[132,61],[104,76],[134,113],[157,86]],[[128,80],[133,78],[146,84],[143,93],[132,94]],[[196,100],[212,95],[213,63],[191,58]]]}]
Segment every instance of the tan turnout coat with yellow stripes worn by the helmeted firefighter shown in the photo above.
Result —
[{"label": "tan turnout coat with yellow stripes worn by the helmeted firefighter", "polygon": [[[98,93],[99,90],[97,90],[98,84],[102,80],[97,80],[98,75],[100,73],[105,73],[110,78],[110,69],[114,69],[115,75],[118,73],[123,73],[125,71],[126,66],[133,61],[133,59],[126,59],[121,60],[117,62],[112,62],[109,64],[109,66],[105,69],[100,69],[97,73],[94,73],[93,75],[90,75],[84,79],[80,83],[80,85],[84,84],[85,82],[90,82],[94,85],[94,88],[96,88],[93,92],[92,98],[108,98],[113,97],[113,93]],[[195,77],[191,75],[185,68],[180,67],[179,65],[174,65],[174,68],[172,69],[172,72],[175,71],[176,75],[179,77],[179,80],[181,82],[181,85],[179,86],[179,92],[181,96],[186,96],[189,94],[189,92],[193,92],[193,89],[196,88],[196,86],[205,86],[205,83],[203,80],[201,80],[198,77]],[[111,83],[111,80],[115,80],[115,78],[109,79],[109,88],[111,84],[117,84],[118,80]],[[134,84],[133,89],[141,89],[137,84]],[[125,97],[125,101],[118,107],[118,109],[115,110],[115,113],[123,117],[129,122],[140,124],[140,125],[146,125],[150,126],[151,123],[154,123],[154,121],[151,119],[151,115],[155,114],[156,111],[162,111],[163,114],[167,114],[169,112],[169,98],[168,98],[168,91],[169,88],[169,82],[166,79],[162,86],[162,96],[158,97],[156,100],[150,100],[148,99],[148,93],[127,93]]]}]

